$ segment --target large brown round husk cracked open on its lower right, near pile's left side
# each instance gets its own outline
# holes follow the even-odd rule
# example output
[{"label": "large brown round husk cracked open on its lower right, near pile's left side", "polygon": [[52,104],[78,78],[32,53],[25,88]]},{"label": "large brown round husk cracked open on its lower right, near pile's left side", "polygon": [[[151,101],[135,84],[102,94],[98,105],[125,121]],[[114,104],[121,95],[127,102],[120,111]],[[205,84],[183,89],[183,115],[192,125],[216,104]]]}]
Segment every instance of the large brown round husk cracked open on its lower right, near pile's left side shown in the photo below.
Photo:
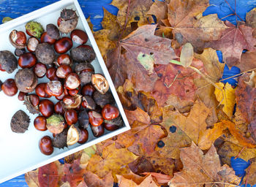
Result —
[{"label": "large brown round husk cracked open on its lower right, near pile's left side", "polygon": [[32,69],[19,69],[15,75],[15,84],[19,91],[32,92],[37,86],[37,76],[34,75]]}]

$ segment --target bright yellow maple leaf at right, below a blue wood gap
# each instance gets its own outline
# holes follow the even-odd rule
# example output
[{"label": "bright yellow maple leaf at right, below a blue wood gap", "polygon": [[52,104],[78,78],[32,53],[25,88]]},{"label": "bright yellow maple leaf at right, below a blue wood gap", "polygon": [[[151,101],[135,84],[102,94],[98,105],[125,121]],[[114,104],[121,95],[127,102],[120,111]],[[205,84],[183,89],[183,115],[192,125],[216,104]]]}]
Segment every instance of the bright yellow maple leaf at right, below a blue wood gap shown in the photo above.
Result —
[{"label": "bright yellow maple leaf at right, below a blue wood gap", "polygon": [[218,102],[220,102],[220,104],[224,105],[222,108],[223,112],[225,112],[225,114],[231,118],[233,115],[234,106],[236,104],[236,88],[232,88],[229,83],[224,84],[219,82],[216,83],[216,85],[222,89],[222,91],[220,91],[219,89],[215,88],[214,94],[216,99]]}]

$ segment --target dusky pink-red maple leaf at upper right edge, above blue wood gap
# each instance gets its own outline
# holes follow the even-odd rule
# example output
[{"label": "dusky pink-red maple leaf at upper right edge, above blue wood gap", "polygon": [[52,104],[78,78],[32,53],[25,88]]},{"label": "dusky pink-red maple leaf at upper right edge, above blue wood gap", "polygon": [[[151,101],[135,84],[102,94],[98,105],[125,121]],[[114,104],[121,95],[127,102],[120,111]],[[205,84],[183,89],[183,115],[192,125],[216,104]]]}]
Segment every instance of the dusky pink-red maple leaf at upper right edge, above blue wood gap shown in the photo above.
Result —
[{"label": "dusky pink-red maple leaf at upper right edge, above blue wood gap", "polygon": [[241,60],[244,49],[254,51],[256,39],[252,37],[252,28],[245,25],[234,26],[226,21],[229,26],[222,32],[222,37],[217,41],[208,42],[207,47],[221,50],[223,61],[227,66],[235,66]]}]

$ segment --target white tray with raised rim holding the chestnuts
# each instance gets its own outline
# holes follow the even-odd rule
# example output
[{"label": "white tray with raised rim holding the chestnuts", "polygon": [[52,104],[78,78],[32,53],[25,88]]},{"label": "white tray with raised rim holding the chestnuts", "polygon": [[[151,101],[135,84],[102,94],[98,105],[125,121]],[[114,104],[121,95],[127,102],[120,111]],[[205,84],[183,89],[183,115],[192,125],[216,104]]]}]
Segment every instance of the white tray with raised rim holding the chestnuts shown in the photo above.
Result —
[{"label": "white tray with raised rim holding the chestnuts", "polygon": [[[94,145],[98,142],[102,142],[110,137],[113,137],[117,134],[120,134],[124,131],[130,129],[127,118],[124,114],[123,107],[121,102],[118,99],[113,82],[108,73],[108,69],[105,66],[105,63],[102,59],[101,54],[99,53],[99,48],[94,40],[91,30],[86,18],[83,15],[80,5],[77,0],[62,0],[54,4],[50,4],[47,7],[38,9],[34,12],[31,12],[27,15],[23,15],[20,18],[11,20],[10,22],[0,25],[0,50],[10,50],[14,53],[15,47],[9,42],[10,31],[16,29],[18,31],[25,31],[25,24],[30,20],[38,21],[45,28],[48,23],[53,23],[56,25],[57,19],[59,18],[61,9],[63,8],[72,8],[76,10],[79,16],[79,22],[77,28],[80,28],[88,34],[89,42],[87,44],[91,45],[94,48],[94,51],[97,55],[97,58],[92,62],[94,65],[95,72],[103,73],[110,84],[110,90],[113,93],[114,98],[116,99],[116,104],[121,113],[121,116],[124,120],[124,127],[116,131],[105,131],[105,134],[102,137],[95,138],[91,129],[89,129],[89,140],[83,144],[79,145],[78,143],[69,148],[58,149],[54,148],[53,154],[50,156],[43,155],[39,150],[39,140],[45,135],[52,135],[49,131],[37,131],[34,129],[34,118],[37,115],[31,115],[26,107],[23,105],[23,102],[18,100],[18,94],[15,96],[5,96],[3,91],[0,92],[0,183],[3,183],[6,180],[15,178],[18,175],[22,175],[25,172],[29,172],[32,169],[42,167],[45,164],[48,164],[52,161],[68,156],[72,153],[82,150],[91,145]],[[28,37],[28,36],[27,36]],[[77,45],[74,45],[76,47]],[[7,74],[6,72],[0,72],[0,80],[4,82],[7,78],[14,78],[15,73]],[[40,79],[39,82],[47,82],[47,78]],[[54,99],[50,99],[56,101]],[[10,121],[12,115],[18,110],[25,111],[31,118],[31,123],[29,130],[24,134],[16,134],[10,129]]]}]

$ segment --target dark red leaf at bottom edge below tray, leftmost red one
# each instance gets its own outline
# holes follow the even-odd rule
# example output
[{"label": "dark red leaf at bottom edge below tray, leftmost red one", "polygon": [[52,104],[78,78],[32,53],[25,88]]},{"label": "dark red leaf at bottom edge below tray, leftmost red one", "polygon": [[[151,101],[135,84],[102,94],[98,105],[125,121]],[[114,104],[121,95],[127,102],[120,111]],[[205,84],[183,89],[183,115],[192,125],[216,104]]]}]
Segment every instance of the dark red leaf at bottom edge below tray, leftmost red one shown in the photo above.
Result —
[{"label": "dark red leaf at bottom edge below tray, leftmost red one", "polygon": [[38,169],[38,182],[40,187],[57,187],[59,181],[58,169],[54,162]]}]

